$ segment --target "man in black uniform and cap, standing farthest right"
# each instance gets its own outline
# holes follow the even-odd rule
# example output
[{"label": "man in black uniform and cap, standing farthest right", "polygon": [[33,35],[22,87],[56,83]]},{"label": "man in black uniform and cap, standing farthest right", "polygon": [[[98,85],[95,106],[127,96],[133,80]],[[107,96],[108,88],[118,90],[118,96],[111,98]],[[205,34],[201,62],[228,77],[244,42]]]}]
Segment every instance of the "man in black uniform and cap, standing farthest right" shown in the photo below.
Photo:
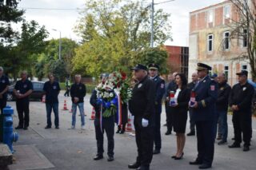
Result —
[{"label": "man in black uniform and cap, standing farthest right", "polygon": [[[230,108],[233,111],[234,144],[230,148],[240,148],[244,141],[243,151],[250,150],[252,136],[251,104],[254,97],[254,87],[247,82],[248,72],[237,73],[239,83],[234,85],[230,93]],[[243,136],[242,136],[243,135]]]}]

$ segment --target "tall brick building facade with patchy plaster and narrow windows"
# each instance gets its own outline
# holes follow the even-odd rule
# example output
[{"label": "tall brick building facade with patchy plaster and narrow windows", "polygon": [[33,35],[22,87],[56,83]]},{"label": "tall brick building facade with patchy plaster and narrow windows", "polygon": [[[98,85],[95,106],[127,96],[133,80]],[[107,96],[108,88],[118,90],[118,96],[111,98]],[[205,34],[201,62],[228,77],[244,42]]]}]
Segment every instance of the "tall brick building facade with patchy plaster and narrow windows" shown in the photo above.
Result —
[{"label": "tall brick building facade with patchy plaster and narrow windows", "polygon": [[241,30],[244,38],[230,38],[235,21],[238,13],[230,1],[190,12],[189,78],[198,62],[212,66],[212,73],[226,73],[230,85],[242,69],[250,73],[249,61],[242,57],[247,55],[247,30]]}]

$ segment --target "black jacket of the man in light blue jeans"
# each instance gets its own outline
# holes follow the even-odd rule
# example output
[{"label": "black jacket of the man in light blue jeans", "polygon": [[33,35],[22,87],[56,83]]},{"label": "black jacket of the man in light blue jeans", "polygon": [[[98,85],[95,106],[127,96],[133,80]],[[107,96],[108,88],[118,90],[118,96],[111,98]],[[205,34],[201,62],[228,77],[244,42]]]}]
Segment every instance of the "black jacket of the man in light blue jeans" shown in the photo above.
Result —
[{"label": "black jacket of the man in light blue jeans", "polygon": [[86,85],[82,83],[71,85],[70,96],[72,97],[72,102],[74,102],[74,97],[78,97],[78,103],[82,103],[83,97],[86,96]]}]

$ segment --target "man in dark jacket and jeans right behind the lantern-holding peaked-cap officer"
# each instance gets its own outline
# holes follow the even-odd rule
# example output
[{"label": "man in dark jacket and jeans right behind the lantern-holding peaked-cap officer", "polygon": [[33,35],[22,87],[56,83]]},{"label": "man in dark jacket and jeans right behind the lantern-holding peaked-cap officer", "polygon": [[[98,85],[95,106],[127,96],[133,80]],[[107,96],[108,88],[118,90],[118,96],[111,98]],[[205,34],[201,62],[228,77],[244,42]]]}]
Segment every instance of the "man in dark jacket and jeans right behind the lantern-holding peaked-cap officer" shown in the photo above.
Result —
[{"label": "man in dark jacket and jeans right behind the lantern-holding peaked-cap officer", "polygon": [[216,109],[218,113],[218,120],[221,124],[219,127],[219,131],[221,132],[222,136],[218,145],[226,144],[227,138],[227,109],[229,104],[229,96],[230,96],[231,87],[226,82],[226,75],[224,73],[218,74],[218,99],[216,102]]}]

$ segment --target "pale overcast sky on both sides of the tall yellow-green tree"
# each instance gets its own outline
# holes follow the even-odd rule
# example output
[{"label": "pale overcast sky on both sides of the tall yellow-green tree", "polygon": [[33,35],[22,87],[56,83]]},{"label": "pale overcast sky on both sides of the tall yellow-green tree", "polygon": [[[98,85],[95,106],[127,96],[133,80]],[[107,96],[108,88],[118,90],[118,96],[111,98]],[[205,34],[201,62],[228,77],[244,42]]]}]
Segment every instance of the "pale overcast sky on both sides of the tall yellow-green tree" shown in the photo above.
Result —
[{"label": "pale overcast sky on both sides of the tall yellow-green tree", "polygon": [[[154,3],[166,1],[154,0]],[[148,2],[150,4],[152,1],[148,0]],[[156,10],[163,9],[166,13],[171,14],[173,41],[167,41],[165,44],[187,46],[189,43],[190,12],[219,2],[223,2],[223,0],[174,0],[156,5]],[[79,10],[32,10],[27,8],[81,9],[84,3],[85,0],[22,0],[18,7],[26,9],[24,16],[27,21],[35,20],[39,25],[46,26],[46,30],[50,33],[50,39],[59,38],[60,31],[62,38],[79,40],[79,37],[74,33],[74,26],[81,16]]]}]

